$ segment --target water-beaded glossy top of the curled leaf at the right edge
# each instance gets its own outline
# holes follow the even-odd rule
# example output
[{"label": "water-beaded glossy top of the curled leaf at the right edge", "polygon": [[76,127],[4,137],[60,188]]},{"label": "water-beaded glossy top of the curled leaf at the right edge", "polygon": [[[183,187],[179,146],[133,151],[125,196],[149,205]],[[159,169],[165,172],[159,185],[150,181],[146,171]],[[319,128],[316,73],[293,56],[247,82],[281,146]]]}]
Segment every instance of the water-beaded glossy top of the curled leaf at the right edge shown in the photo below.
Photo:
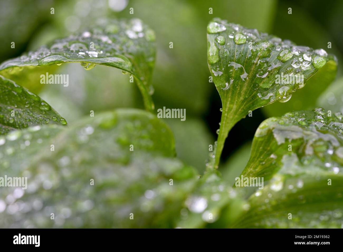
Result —
[{"label": "water-beaded glossy top of the curled leaf at the right edge", "polygon": [[[341,112],[322,108],[289,112],[262,122],[255,137],[272,134],[276,143],[284,146],[283,154],[277,155],[284,161],[280,173],[292,174],[294,169],[308,166],[311,173],[317,169],[338,174],[343,172],[342,119]],[[293,152],[288,150],[288,144],[293,146]]]}]

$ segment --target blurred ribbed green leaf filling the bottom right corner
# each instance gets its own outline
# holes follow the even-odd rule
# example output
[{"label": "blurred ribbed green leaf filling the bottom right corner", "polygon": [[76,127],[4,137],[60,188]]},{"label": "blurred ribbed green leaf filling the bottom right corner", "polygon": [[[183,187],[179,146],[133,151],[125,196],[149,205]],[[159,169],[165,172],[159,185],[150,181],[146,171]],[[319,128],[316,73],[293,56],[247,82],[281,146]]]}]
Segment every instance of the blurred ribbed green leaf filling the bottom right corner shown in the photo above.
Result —
[{"label": "blurred ribbed green leaf filling the bottom right corner", "polygon": [[299,175],[275,181],[276,186],[267,185],[249,198],[249,212],[230,227],[342,228],[342,174]]}]

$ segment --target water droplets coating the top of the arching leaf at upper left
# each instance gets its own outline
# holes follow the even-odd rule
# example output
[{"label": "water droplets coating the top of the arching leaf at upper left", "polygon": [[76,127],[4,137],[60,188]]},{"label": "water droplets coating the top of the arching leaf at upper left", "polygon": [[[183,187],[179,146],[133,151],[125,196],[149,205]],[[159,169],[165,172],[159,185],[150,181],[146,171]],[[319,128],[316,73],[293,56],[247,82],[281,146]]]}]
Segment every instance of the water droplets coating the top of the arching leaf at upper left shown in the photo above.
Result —
[{"label": "water droplets coating the top of the arching leaf at upper left", "polygon": [[[92,69],[95,64],[114,63],[114,66],[119,64],[131,71],[129,55],[143,50],[141,47],[144,44],[149,45],[154,41],[154,32],[137,18],[129,21],[98,20],[93,28],[81,34],[55,40],[37,51],[5,61],[0,65],[0,70],[13,65],[51,65],[84,60],[81,65],[86,70]],[[146,50],[146,53],[151,52]],[[153,53],[146,56],[147,61],[154,59]]]}]

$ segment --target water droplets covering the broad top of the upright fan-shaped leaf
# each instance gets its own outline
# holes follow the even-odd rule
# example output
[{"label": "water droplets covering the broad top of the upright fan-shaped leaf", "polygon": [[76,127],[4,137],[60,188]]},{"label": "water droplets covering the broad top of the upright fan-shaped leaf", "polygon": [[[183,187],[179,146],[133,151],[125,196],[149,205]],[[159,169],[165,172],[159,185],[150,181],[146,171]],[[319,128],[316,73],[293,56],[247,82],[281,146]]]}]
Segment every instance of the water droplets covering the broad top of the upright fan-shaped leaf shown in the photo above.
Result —
[{"label": "water droplets covering the broad top of the upright fan-shaped leaf", "polygon": [[[249,81],[247,76],[251,75],[251,85],[254,85],[258,98],[265,105],[275,100],[288,101],[292,93],[303,88],[305,81],[328,60],[336,61],[334,56],[328,55],[323,49],[297,46],[290,40],[282,40],[219,18],[209,23],[207,32],[210,45],[208,62],[214,78],[222,83],[221,89],[230,90],[231,84],[245,83]],[[245,50],[242,45],[247,45],[249,50]],[[243,57],[243,63],[248,63],[239,64],[239,57]],[[229,64],[223,65],[224,62]],[[238,79],[237,71],[243,74],[240,75],[241,80]],[[283,82],[278,83],[277,78],[282,78]]]}]

